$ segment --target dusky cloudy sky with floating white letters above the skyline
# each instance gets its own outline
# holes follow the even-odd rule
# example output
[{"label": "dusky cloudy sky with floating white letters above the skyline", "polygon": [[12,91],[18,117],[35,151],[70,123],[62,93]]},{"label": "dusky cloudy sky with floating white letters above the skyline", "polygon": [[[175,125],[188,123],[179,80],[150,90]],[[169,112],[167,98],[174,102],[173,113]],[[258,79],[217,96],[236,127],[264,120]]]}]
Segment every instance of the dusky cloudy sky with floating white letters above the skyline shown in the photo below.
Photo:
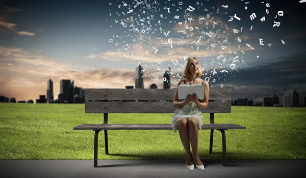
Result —
[{"label": "dusky cloudy sky with floating white letters above the skyline", "polygon": [[0,1],[0,95],[35,101],[48,79],[54,99],[61,79],[125,88],[135,85],[138,65],[145,88],[162,88],[170,67],[173,88],[194,56],[201,78],[231,88],[234,100],[282,102],[293,90],[302,99],[305,9],[296,0]]}]

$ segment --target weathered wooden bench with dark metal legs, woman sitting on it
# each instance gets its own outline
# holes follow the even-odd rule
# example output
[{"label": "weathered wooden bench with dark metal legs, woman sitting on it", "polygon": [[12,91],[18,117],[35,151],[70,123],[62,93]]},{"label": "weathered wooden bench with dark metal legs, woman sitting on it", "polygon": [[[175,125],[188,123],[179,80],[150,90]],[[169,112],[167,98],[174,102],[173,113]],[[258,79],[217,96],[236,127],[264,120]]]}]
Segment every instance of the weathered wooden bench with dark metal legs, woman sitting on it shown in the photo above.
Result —
[{"label": "weathered wooden bench with dark metal legs, woman sitting on it", "polygon": [[[103,124],[83,124],[73,127],[73,130],[95,131],[94,167],[97,167],[98,133],[101,130],[104,130],[105,154],[107,155],[109,154],[108,130],[171,130],[171,132],[173,132],[171,127],[172,117],[169,117],[169,123],[167,124],[108,124],[109,113],[174,113],[177,108],[173,106],[174,94],[175,88],[85,88],[85,113],[104,113],[104,122]],[[222,102],[222,100],[226,102]],[[214,130],[218,130],[222,134],[223,166],[226,165],[226,142],[224,131],[228,129],[245,129],[245,127],[235,124],[215,124],[214,122],[214,113],[231,112],[231,100],[232,91],[229,89],[210,90],[208,107],[201,109],[202,113],[210,113],[211,124],[202,125],[203,130],[211,130],[210,154],[212,154],[213,151]],[[145,119],[145,114],[143,118]],[[205,119],[204,117],[204,120]],[[173,134],[175,133],[173,132]],[[177,136],[179,137],[178,134]]]}]

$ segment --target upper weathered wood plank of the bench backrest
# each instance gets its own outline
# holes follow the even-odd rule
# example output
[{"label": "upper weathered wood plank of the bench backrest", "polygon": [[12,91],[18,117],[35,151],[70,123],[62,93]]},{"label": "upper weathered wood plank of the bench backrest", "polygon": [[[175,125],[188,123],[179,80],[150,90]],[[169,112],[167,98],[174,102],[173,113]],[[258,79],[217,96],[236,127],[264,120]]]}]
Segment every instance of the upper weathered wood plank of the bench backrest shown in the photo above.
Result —
[{"label": "upper weathered wood plank of the bench backrest", "polygon": [[[172,100],[175,88],[85,88],[85,100]],[[209,100],[232,100],[232,90],[221,88],[211,89]]]}]

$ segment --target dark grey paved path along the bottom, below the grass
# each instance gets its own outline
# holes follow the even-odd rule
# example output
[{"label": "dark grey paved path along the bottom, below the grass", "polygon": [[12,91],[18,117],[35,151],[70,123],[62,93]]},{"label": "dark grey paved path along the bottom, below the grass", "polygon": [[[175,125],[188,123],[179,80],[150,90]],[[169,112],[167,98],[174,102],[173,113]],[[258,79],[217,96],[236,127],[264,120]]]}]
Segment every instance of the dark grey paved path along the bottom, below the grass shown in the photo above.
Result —
[{"label": "dark grey paved path along the bottom, below the grass", "polygon": [[0,160],[0,177],[303,177],[306,160],[202,161],[206,170],[186,168],[186,160]]}]

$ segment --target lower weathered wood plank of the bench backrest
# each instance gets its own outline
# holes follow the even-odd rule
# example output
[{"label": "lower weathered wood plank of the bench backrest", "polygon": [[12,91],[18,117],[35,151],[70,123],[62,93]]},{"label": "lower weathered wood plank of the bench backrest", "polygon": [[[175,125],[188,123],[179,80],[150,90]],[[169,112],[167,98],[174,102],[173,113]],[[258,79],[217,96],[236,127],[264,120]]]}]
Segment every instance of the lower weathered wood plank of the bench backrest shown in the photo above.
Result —
[{"label": "lower weathered wood plank of the bench backrest", "polygon": [[[231,102],[208,102],[202,113],[230,113]],[[85,113],[174,113],[173,102],[87,102]]]}]

